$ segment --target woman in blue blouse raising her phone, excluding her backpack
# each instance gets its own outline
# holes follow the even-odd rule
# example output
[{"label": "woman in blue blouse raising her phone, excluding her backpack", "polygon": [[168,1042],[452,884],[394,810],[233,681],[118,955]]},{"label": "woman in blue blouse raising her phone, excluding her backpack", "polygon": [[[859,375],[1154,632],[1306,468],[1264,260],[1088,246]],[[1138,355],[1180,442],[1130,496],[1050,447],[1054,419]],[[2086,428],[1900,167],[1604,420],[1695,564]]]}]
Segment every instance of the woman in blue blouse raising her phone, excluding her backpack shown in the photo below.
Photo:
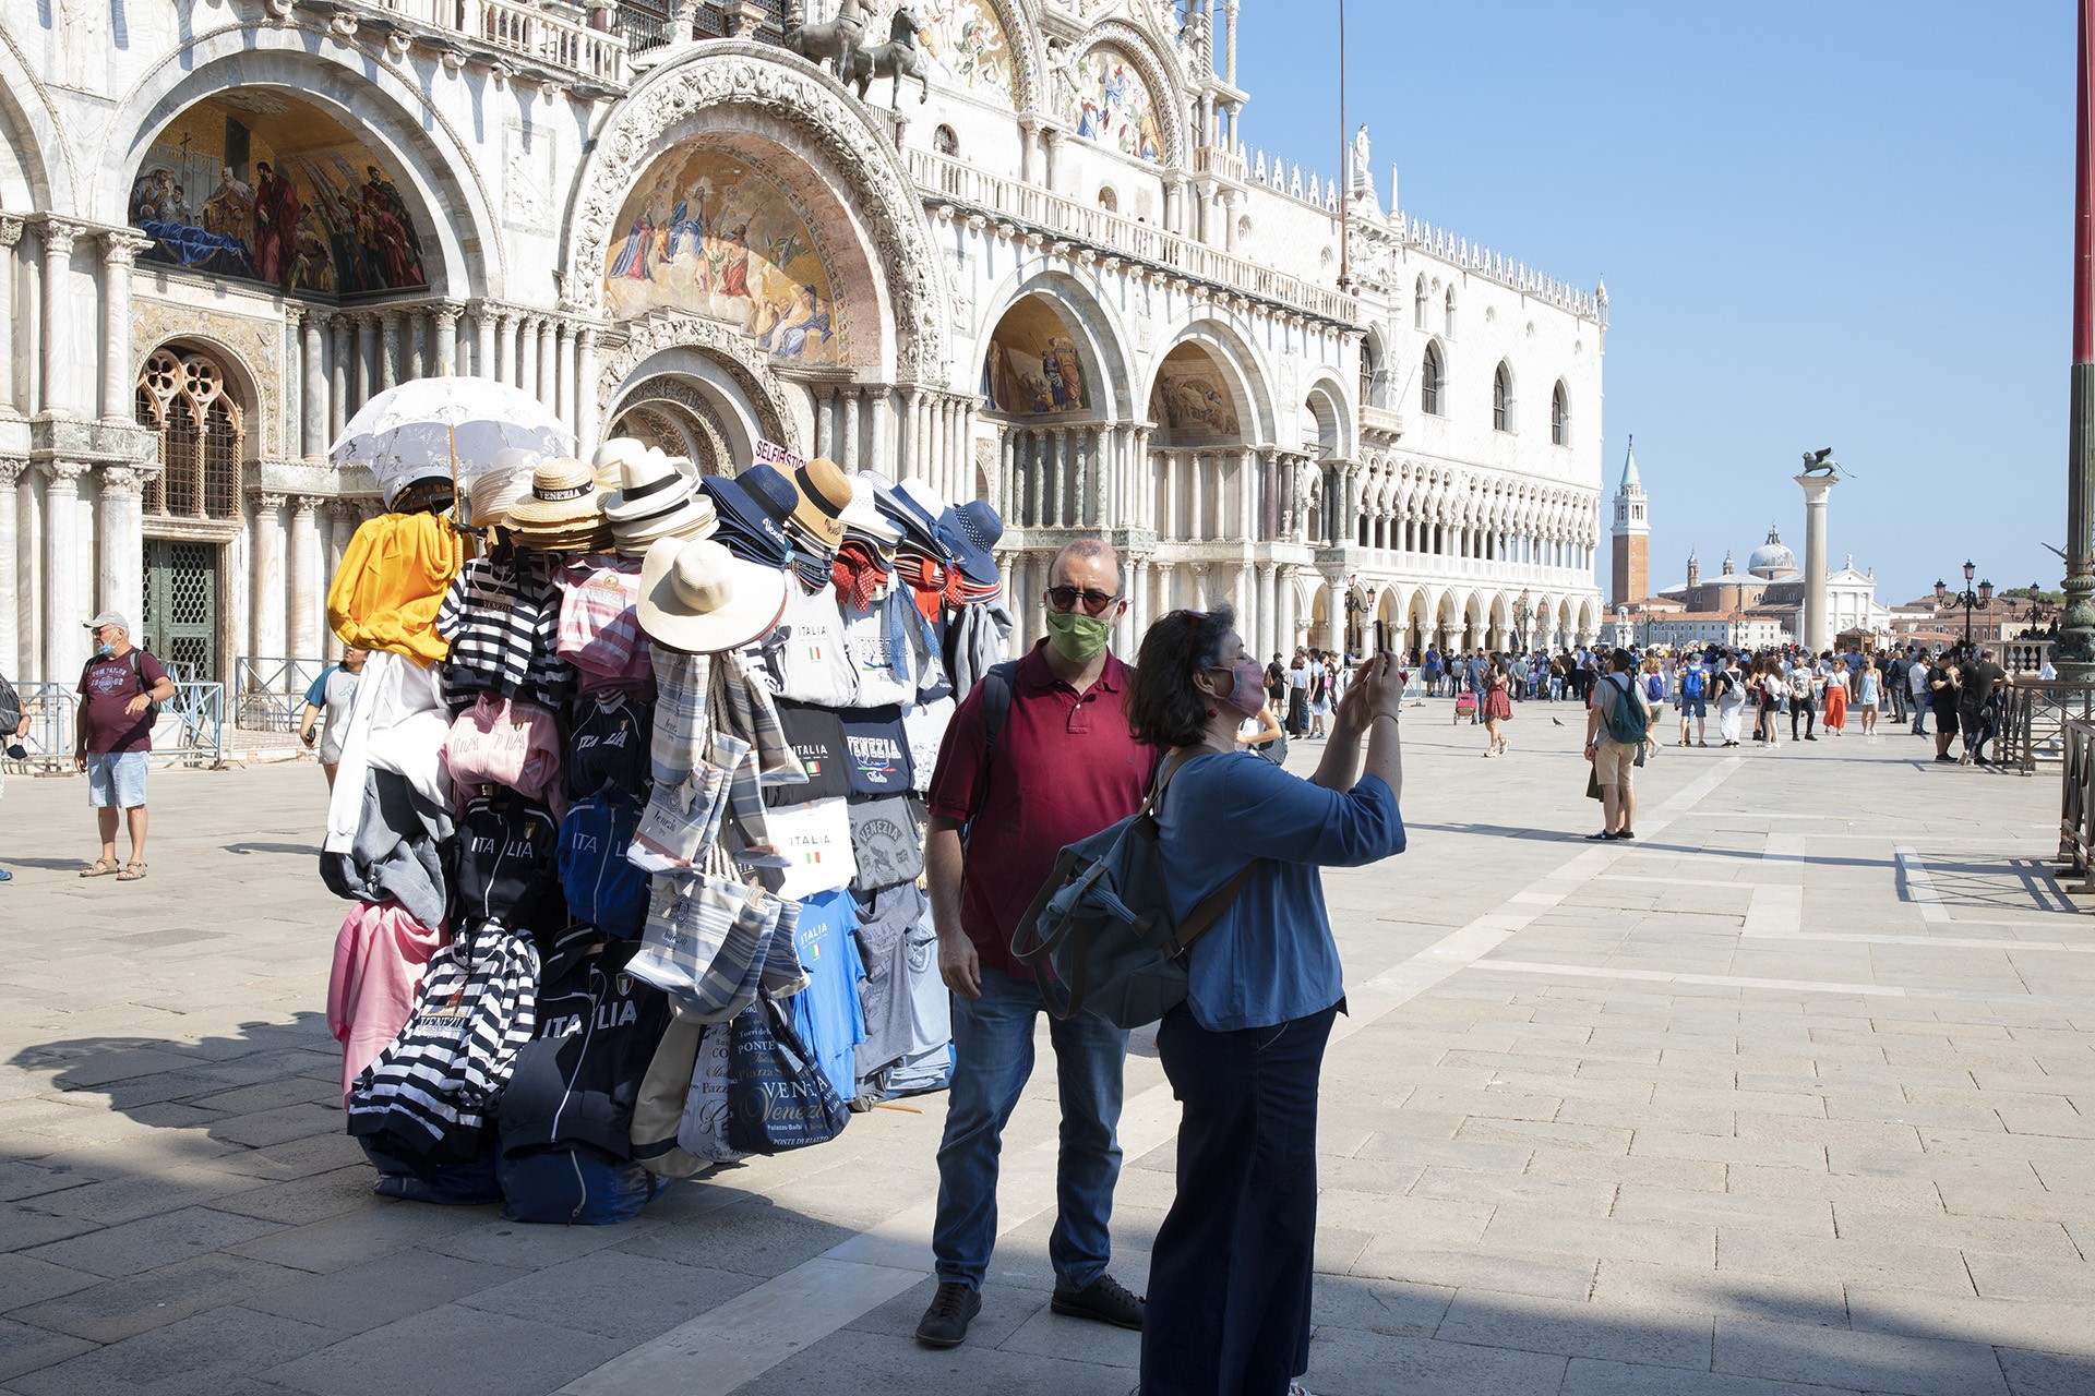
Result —
[{"label": "woman in blue blouse raising her phone, excluding her backpack", "polygon": [[1303,781],[1236,749],[1263,672],[1234,622],[1228,607],[1165,615],[1127,697],[1135,739],[1175,768],[1159,816],[1173,910],[1259,860],[1156,1030],[1182,1120],[1177,1199],[1150,1252],[1144,1396],[1282,1396],[1309,1369],[1318,1072],[1345,1007],[1318,869],[1404,852],[1393,659],[1360,668]]}]

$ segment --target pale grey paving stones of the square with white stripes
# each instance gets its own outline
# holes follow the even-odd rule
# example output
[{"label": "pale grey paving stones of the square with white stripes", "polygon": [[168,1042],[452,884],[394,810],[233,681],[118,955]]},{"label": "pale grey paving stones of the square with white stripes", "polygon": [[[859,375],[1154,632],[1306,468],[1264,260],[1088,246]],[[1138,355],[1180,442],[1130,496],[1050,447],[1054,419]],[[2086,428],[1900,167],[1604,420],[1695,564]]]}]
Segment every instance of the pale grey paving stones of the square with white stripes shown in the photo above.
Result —
[{"label": "pale grey paving stones of the square with white stripes", "polygon": [[[1563,718],[1563,726],[1552,722]],[[1324,1396],[2095,1392],[2095,933],[2055,776],[1904,735],[1666,749],[1586,843],[1580,714],[1406,722],[1412,846],[1330,873]],[[1299,768],[1316,743],[1297,743]],[[153,871],[80,881],[80,779],[0,800],[0,1390],[1121,1396],[1048,1312],[1054,1086],[1006,1141],[966,1348],[930,1293],[943,1097],[547,1229],[371,1197],[323,1021],[312,766],[153,776]],[[1045,1059],[1045,1044],[1043,1044]],[[1115,1273],[1171,1203],[1127,1063]]]}]

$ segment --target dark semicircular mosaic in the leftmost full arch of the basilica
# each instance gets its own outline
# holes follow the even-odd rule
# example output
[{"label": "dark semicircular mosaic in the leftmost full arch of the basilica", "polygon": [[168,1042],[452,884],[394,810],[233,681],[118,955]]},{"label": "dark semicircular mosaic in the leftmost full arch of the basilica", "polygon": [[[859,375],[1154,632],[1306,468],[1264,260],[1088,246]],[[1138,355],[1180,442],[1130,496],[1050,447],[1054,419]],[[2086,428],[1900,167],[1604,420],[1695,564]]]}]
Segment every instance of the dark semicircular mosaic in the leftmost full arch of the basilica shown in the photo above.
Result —
[{"label": "dark semicircular mosaic in the leftmost full arch of the basilica", "polygon": [[279,291],[427,285],[421,232],[388,165],[333,117],[274,92],[197,103],[145,153],[130,222],[142,262]]}]

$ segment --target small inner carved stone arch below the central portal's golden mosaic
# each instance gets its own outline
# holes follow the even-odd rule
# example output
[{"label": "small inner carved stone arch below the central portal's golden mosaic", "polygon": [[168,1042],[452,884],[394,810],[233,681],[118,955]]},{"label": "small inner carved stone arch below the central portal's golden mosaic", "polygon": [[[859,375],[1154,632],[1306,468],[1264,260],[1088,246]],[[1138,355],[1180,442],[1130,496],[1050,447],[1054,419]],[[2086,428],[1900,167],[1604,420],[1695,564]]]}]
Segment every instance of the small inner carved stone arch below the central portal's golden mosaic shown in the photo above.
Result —
[{"label": "small inner carved stone arch below the central portal's golden mosaic", "polygon": [[809,437],[794,408],[800,393],[792,393],[760,354],[750,354],[742,335],[716,320],[666,310],[637,320],[626,341],[605,356],[597,387],[601,419],[616,421],[635,389],[660,375],[683,381],[714,410],[733,469],[752,458],[760,440],[798,452]]}]

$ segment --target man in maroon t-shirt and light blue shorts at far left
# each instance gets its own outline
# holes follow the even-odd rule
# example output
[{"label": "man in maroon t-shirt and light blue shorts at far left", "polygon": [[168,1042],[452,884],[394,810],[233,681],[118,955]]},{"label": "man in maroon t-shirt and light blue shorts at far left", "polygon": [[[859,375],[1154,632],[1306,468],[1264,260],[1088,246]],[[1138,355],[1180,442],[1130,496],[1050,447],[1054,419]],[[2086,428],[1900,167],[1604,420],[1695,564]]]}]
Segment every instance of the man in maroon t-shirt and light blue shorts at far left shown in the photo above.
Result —
[{"label": "man in maroon t-shirt and light blue shorts at far left", "polygon": [[[94,653],[80,670],[80,724],[73,768],[88,772],[88,804],[103,835],[103,852],[82,877],[138,881],[145,862],[145,772],[153,751],[159,705],[174,699],[174,680],[159,659],[130,643],[130,622],[103,611],[88,622]],[[117,862],[117,810],[130,825],[130,862]]]}]

